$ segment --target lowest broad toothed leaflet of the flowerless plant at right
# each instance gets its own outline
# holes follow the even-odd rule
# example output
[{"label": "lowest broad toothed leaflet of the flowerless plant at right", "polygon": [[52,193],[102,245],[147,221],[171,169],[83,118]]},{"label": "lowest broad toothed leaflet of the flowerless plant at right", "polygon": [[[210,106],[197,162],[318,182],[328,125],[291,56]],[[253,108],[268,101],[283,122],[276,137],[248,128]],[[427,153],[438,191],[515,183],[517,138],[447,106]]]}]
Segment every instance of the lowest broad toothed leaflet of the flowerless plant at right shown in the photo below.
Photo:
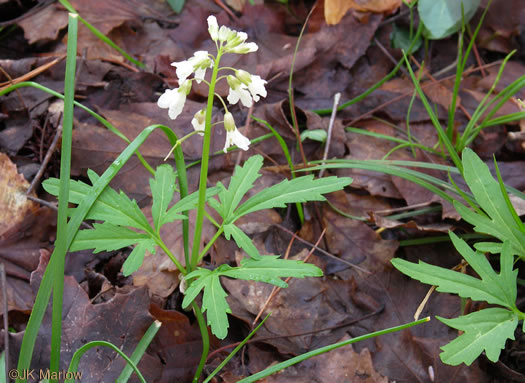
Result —
[{"label": "lowest broad toothed leaflet of the flowerless plant at right", "polygon": [[437,317],[447,326],[464,331],[462,335],[441,347],[443,363],[467,366],[483,352],[497,362],[507,339],[514,339],[518,315],[503,308],[488,308],[455,319]]}]

